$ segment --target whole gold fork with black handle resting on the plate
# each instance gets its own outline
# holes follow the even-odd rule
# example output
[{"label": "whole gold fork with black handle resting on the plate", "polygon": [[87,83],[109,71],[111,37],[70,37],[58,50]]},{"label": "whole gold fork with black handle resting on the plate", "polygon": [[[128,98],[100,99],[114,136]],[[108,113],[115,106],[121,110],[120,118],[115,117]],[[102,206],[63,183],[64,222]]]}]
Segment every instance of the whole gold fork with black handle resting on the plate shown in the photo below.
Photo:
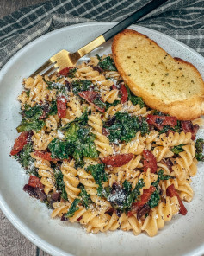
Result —
[{"label": "whole gold fork with black handle resting on the plate", "polygon": [[153,0],[150,3],[147,3],[144,7],[135,11],[131,16],[128,16],[125,20],[119,22],[104,34],[96,37],[95,40],[83,46],[83,48],[80,48],[75,53],[61,50],[59,53],[53,55],[53,57],[46,61],[40,68],[38,68],[34,74],[31,74],[31,77],[34,77],[37,74],[52,75],[54,72],[59,72],[65,67],[74,67],[77,61],[84,55],[89,54],[93,49],[102,45],[103,42],[107,42],[114,35],[118,34],[123,29],[126,29],[128,26],[133,24],[133,22],[138,21],[141,17],[150,13],[151,10],[155,10],[158,8],[158,6],[165,3],[166,1],[168,0]]}]

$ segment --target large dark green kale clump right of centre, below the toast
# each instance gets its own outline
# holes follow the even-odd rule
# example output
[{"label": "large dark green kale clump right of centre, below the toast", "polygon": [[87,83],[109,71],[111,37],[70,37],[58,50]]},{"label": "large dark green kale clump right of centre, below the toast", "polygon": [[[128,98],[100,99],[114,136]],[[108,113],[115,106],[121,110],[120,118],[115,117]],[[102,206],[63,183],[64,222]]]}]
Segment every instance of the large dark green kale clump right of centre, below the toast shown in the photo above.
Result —
[{"label": "large dark green kale clump right of centre, below the toast", "polygon": [[[106,124],[104,124],[106,128]],[[131,116],[128,112],[116,112],[114,125],[107,127],[108,138],[111,142],[128,142],[135,137],[137,131],[145,135],[149,131],[145,118]]]}]

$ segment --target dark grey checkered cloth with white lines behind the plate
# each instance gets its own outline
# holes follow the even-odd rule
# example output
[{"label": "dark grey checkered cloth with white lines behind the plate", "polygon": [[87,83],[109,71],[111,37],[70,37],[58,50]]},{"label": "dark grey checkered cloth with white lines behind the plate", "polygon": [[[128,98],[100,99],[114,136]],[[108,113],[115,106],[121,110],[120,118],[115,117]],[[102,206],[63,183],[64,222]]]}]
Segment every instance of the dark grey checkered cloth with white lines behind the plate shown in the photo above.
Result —
[{"label": "dark grey checkered cloth with white lines behind the plate", "polygon": [[[52,0],[0,20],[0,68],[19,49],[54,29],[81,22],[120,22],[150,0]],[[203,0],[169,0],[139,22],[204,55]]]}]

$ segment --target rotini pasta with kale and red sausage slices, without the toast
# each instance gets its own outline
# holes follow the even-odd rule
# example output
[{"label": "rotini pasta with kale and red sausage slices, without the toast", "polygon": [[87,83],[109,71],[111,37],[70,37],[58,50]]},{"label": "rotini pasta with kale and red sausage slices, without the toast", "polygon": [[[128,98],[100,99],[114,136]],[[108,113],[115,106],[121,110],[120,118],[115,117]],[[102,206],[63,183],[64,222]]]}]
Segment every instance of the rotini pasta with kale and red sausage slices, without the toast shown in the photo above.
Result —
[{"label": "rotini pasta with kale and red sausage slices, without the toast", "polygon": [[191,178],[204,161],[201,119],[180,121],[145,106],[111,54],[23,84],[10,155],[29,175],[24,191],[53,209],[52,218],[92,233],[154,236],[187,214]]}]

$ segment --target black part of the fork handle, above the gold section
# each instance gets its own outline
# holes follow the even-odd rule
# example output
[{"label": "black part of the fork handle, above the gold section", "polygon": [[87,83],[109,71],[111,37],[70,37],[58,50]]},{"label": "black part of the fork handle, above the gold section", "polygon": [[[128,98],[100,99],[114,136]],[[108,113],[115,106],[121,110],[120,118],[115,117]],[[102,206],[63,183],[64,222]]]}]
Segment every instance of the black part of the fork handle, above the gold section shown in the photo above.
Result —
[{"label": "black part of the fork handle, above the gold section", "polygon": [[158,8],[158,6],[167,1],[168,0],[152,0],[150,3],[145,4],[145,6],[143,6],[139,10],[136,10],[132,15],[128,16],[125,20],[119,22],[113,28],[109,29],[104,34],[102,34],[103,37],[106,41],[108,41],[110,38],[114,37],[114,35],[117,35],[123,29],[126,29],[131,24],[133,24],[133,22],[138,21],[141,17],[147,15],[152,10],[155,10],[156,8]]}]

